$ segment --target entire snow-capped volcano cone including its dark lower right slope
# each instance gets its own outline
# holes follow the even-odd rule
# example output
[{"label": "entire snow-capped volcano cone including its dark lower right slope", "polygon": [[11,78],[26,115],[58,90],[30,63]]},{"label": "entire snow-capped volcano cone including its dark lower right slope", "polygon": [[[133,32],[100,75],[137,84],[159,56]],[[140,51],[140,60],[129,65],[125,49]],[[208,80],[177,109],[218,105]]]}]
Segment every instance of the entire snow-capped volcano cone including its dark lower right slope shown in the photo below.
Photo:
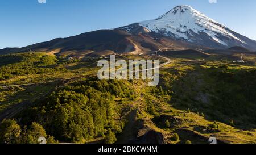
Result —
[{"label": "entire snow-capped volcano cone including its dark lower right slope", "polygon": [[239,45],[256,49],[255,41],[242,36],[187,5],[176,6],[166,14],[119,28],[129,33],[156,32],[197,45],[226,48]]}]

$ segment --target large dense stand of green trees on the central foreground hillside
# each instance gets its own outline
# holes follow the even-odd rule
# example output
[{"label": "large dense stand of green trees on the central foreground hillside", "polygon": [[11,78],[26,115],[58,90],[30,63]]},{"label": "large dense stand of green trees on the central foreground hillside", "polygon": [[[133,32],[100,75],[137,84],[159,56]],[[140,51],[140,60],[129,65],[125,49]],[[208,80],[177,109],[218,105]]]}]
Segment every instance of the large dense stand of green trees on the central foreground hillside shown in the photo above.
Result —
[{"label": "large dense stand of green trees on the central foreground hillside", "polygon": [[114,143],[115,134],[122,132],[125,123],[113,119],[114,98],[130,93],[134,90],[122,81],[74,82],[20,114],[20,124],[42,124],[46,133],[59,141],[83,143],[105,137],[105,143]]}]

